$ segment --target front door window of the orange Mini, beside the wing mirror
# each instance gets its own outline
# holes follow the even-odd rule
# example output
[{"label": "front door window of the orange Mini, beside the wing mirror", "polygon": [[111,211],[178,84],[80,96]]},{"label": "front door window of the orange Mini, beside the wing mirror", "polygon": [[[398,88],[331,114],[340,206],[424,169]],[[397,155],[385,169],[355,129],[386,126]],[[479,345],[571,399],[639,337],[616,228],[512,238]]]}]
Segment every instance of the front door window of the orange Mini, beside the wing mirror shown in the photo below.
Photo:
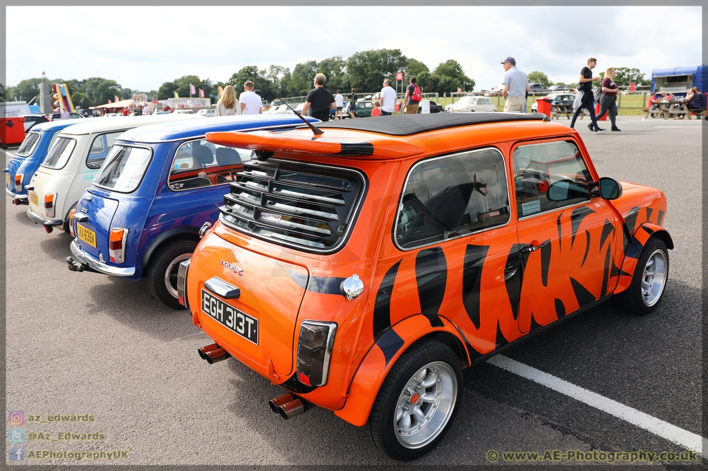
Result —
[{"label": "front door window of the orange Mini, beside the wing mirror", "polygon": [[518,146],[513,169],[520,219],[590,200],[590,173],[571,141]]}]

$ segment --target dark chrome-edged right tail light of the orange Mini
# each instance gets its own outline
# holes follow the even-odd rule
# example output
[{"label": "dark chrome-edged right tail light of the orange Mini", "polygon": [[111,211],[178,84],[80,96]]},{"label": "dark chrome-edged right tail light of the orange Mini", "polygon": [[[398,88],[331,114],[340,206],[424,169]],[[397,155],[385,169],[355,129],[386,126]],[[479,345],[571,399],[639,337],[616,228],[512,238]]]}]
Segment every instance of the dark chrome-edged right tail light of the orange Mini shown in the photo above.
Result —
[{"label": "dark chrome-edged right tail light of the orange Mini", "polygon": [[337,325],[334,322],[304,320],[297,342],[297,379],[306,386],[324,386]]}]

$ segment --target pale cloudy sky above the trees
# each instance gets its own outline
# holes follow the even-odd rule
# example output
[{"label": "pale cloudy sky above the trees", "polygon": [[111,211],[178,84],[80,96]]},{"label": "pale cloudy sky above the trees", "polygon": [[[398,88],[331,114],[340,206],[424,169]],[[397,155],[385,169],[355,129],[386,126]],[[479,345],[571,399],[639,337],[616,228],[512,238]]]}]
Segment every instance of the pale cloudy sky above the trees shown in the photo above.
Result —
[{"label": "pale cloudy sky above the trees", "polygon": [[[577,81],[588,57],[598,58],[596,71],[632,67],[645,77],[702,58],[700,6],[6,8],[9,86],[46,71],[50,79],[98,76],[150,91],[184,75],[227,81],[243,66],[292,71],[312,59],[385,48],[431,71],[455,59],[482,90],[501,84],[508,56],[556,82]],[[657,18],[681,18],[680,33],[649,33]],[[64,25],[66,33],[40,25]]]}]

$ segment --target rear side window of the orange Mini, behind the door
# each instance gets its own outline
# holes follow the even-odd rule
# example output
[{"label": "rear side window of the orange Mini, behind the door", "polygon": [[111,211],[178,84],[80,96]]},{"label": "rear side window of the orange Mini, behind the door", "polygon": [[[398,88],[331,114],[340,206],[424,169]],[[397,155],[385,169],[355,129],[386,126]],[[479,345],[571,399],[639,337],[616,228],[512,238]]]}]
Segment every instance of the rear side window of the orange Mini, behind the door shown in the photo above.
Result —
[{"label": "rear side window of the orange Mini, behind the door", "polygon": [[413,166],[396,219],[402,249],[503,226],[509,221],[506,170],[501,153],[480,149]]}]

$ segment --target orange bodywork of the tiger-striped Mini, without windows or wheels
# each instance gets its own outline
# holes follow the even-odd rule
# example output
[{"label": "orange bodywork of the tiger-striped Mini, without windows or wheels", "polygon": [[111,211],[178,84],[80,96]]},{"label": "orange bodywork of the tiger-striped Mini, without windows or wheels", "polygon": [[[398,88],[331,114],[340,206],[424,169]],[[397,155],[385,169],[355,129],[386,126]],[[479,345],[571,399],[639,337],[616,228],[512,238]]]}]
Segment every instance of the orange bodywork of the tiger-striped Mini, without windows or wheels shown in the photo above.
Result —
[{"label": "orange bodywork of the tiger-striped Mini, without windows or wheels", "polygon": [[[188,274],[193,322],[239,361],[276,384],[285,383],[296,373],[297,332],[302,320],[336,322],[329,380],[302,395],[316,405],[335,410],[352,424],[364,424],[389,369],[423,335],[449,332],[464,346],[464,364],[474,364],[534,328],[626,289],[625,279],[630,280],[631,276],[623,273],[632,273],[629,270],[634,268],[632,260],[636,264],[636,259],[628,260],[624,255],[627,244],[623,219],[628,214],[632,219],[632,208],[641,208],[631,226],[629,221],[627,226],[633,238],[636,235],[637,243],[646,243],[640,235],[646,231],[638,228],[651,221],[653,231],[663,231],[666,197],[651,187],[623,183],[624,194],[614,202],[595,197],[586,204],[519,220],[511,153],[521,143],[554,139],[575,142],[591,178],[598,180],[578,134],[552,122],[475,124],[402,137],[347,129],[326,129],[316,139],[309,129],[278,134],[207,134],[207,141],[217,144],[274,151],[272,159],[357,168],[367,177],[367,192],[346,245],[329,255],[275,245],[236,231],[222,221],[215,223],[195,250]],[[373,155],[333,155],[341,150],[341,142],[370,143]],[[483,147],[498,149],[506,164],[508,223],[421,248],[397,248],[392,227],[411,167],[430,156]],[[515,253],[520,245],[546,240],[549,244],[545,251],[528,255],[518,293],[510,294],[505,281],[510,253]],[[224,267],[222,260],[241,267],[243,276]],[[433,272],[438,283],[435,286],[439,286],[438,291],[430,291],[434,296],[421,296],[419,292],[419,260],[426,267],[440,267]],[[302,289],[289,274],[291,271],[311,278],[343,279],[358,274],[365,288],[358,298],[347,301],[338,294]],[[202,284],[215,276],[241,288],[241,298],[227,303],[261,322],[257,347],[200,308]],[[384,289],[382,284],[389,279],[393,280],[392,285]],[[375,318],[377,295],[383,301]],[[382,317],[383,305],[387,312]],[[435,312],[430,312],[431,308]],[[421,312],[433,315],[433,320]],[[435,320],[435,315],[441,322]],[[433,327],[434,323],[438,327]],[[381,348],[381,342],[393,337],[387,332],[395,332],[402,342],[398,349],[389,351],[388,359]],[[270,375],[268,360],[273,364]]]}]

